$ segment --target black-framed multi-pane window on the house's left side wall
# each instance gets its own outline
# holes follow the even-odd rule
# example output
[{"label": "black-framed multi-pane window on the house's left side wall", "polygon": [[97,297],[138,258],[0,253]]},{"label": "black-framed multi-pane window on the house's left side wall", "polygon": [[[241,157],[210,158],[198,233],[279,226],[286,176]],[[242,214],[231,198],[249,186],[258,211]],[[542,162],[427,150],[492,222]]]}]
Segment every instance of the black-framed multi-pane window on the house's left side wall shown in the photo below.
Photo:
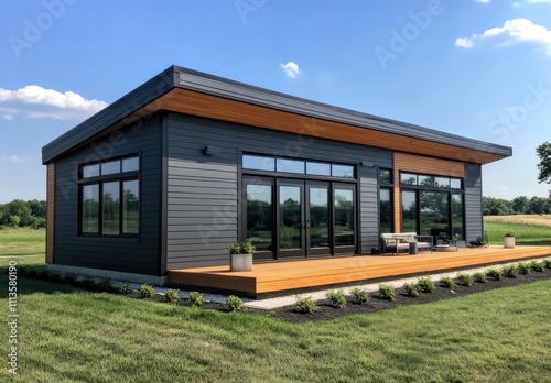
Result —
[{"label": "black-framed multi-pane window on the house's left side wall", "polygon": [[80,167],[82,234],[137,236],[140,219],[139,157]]}]

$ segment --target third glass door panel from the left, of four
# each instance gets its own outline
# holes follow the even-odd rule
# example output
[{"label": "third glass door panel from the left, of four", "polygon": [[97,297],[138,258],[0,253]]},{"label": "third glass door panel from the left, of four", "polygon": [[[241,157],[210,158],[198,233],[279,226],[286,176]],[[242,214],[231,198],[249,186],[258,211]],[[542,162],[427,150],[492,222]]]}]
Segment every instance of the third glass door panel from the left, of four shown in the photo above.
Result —
[{"label": "third glass door panel from the left, of four", "polygon": [[328,185],[307,185],[306,236],[309,255],[331,255]]}]

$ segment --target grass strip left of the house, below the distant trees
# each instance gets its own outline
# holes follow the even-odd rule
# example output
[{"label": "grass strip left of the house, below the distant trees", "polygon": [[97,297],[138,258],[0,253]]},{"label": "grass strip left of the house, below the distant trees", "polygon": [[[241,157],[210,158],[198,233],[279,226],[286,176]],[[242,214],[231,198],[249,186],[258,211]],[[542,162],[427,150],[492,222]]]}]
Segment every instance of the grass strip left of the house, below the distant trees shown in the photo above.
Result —
[{"label": "grass strip left of the house, below the distant trees", "polygon": [[2,227],[0,230],[0,256],[44,254],[46,230]]}]

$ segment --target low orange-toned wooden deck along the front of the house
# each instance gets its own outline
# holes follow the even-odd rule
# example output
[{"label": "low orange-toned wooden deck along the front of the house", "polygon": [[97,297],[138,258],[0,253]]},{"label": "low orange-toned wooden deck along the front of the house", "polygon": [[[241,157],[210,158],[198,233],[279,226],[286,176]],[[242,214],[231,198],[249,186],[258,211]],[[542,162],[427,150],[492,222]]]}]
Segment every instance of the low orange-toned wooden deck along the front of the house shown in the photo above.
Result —
[{"label": "low orange-toned wooden deck along the front of the house", "polygon": [[428,272],[451,271],[551,255],[551,247],[458,249],[417,255],[355,255],[255,264],[251,272],[229,266],[169,271],[169,284],[205,292],[233,293],[253,298],[314,287],[329,287]]}]

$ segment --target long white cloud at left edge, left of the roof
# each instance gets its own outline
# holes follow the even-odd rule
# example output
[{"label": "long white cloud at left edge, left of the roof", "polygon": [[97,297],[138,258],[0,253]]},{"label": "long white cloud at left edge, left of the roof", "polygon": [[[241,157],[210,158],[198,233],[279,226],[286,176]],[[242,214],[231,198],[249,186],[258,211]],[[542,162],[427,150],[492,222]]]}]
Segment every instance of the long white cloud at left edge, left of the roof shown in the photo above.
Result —
[{"label": "long white cloud at left edge, left of the roof", "polygon": [[4,120],[12,120],[17,114],[31,119],[83,119],[107,106],[107,102],[87,100],[74,91],[62,94],[36,85],[28,85],[18,90],[0,88],[0,116]]}]

